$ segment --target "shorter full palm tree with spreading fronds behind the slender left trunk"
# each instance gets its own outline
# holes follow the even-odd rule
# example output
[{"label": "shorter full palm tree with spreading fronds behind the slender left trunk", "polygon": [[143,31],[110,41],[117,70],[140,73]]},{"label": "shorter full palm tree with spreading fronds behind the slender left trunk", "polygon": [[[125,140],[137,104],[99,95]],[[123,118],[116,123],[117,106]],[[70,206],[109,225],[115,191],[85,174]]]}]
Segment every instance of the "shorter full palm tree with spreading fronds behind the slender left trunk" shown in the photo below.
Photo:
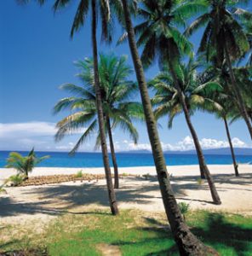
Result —
[{"label": "shorter full palm tree with spreading fronds behind the slender left trunk", "polygon": [[[102,96],[103,115],[106,124],[106,134],[109,137],[112,163],[115,173],[115,189],[119,188],[119,177],[117,159],[114,149],[112,128],[119,126],[123,131],[129,132],[129,136],[135,143],[138,140],[138,132],[132,123],[132,119],[143,119],[142,106],[139,102],[129,101],[132,98],[136,84],[128,80],[131,68],[126,64],[125,56],[100,55],[99,78]],[[94,90],[94,62],[86,58],[84,61],[77,61],[77,67],[81,73],[77,76],[82,80],[83,86],[75,84],[63,84],[61,89],[74,93],[74,96],[60,100],[54,107],[54,113],[69,109],[71,114],[60,120],[57,124],[58,131],[55,135],[56,141],[61,140],[67,134],[88,126],[83,135],[72,148],[71,154],[84,143],[97,129],[97,111],[95,108]],[[100,134],[96,139],[96,148],[100,147]]]}]

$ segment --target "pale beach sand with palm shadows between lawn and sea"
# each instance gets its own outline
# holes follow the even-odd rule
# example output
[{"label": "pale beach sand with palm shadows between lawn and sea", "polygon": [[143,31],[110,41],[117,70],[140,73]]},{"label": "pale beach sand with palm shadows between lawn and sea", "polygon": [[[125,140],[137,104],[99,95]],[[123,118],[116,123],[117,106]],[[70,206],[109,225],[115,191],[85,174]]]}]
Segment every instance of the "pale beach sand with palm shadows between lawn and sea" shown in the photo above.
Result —
[{"label": "pale beach sand with palm shadows between lawn and sea", "polygon": [[[103,168],[49,168],[37,167],[31,176],[72,174],[77,171],[100,174]],[[235,177],[232,166],[209,166],[221,197],[221,206],[212,203],[208,183],[198,182],[198,166],[168,166],[171,183],[178,201],[184,201],[192,210],[252,214],[252,166],[240,165],[240,177]],[[140,177],[120,179],[116,190],[121,209],[139,209],[147,212],[163,212],[163,201],[158,188],[156,171],[150,167],[123,167],[119,172],[133,173]],[[0,169],[0,182],[14,174],[11,169]],[[149,173],[151,177],[142,177]],[[61,213],[85,213],[108,208],[106,182],[68,182],[28,187],[10,187],[0,194],[0,224],[22,223],[32,220],[48,222]]]}]

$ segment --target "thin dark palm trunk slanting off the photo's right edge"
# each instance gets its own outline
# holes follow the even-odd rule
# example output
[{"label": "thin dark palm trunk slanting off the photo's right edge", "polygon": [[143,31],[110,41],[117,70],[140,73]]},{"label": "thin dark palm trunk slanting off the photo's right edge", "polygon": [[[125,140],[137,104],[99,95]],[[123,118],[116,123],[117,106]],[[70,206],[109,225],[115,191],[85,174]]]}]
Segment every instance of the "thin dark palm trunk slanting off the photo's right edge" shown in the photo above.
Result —
[{"label": "thin dark palm trunk slanting off the photo's right edge", "polygon": [[250,120],[249,120],[249,114],[248,114],[248,112],[246,110],[246,107],[245,107],[245,104],[243,102],[243,97],[242,97],[242,95],[240,93],[240,90],[238,88],[238,85],[236,83],[234,73],[232,72],[232,63],[231,63],[230,56],[229,56],[229,53],[228,53],[228,50],[227,50],[226,41],[224,42],[224,49],[225,49],[226,61],[227,61],[227,65],[228,65],[228,69],[229,69],[229,73],[230,73],[232,88],[235,91],[235,94],[236,94],[237,99],[238,99],[238,108],[239,108],[240,113],[243,116],[243,119],[244,119],[244,121],[245,121],[245,123],[248,127],[249,134],[250,134],[250,137],[252,139],[252,125],[251,125]]}]

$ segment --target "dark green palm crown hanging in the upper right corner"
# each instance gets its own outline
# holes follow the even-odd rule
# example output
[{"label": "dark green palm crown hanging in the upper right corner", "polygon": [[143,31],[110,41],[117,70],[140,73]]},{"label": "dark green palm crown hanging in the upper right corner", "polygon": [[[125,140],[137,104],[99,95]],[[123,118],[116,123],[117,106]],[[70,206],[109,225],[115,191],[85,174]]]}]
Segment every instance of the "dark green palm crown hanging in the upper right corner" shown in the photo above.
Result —
[{"label": "dark green palm crown hanging in the upper right corner", "polygon": [[209,8],[186,29],[186,36],[189,36],[192,32],[205,26],[198,51],[205,52],[207,59],[215,55],[219,65],[225,58],[223,42],[226,43],[228,54],[232,60],[237,60],[249,49],[248,38],[234,15],[233,9],[237,2],[232,0],[206,1]]}]

